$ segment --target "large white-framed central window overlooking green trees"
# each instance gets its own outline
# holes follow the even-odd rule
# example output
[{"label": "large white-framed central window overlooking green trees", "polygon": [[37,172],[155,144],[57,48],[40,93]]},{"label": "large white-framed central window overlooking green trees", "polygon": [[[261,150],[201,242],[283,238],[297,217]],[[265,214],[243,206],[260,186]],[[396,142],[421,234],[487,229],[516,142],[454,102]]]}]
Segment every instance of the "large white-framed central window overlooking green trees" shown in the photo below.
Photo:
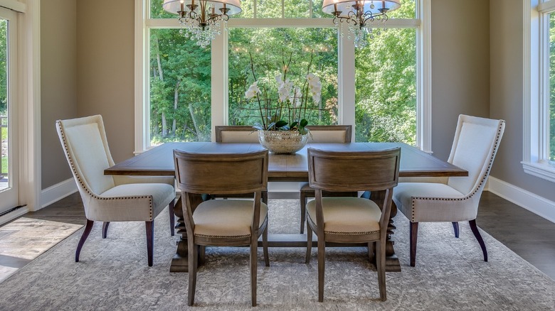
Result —
[{"label": "large white-framed central window overlooking green trees", "polygon": [[[257,78],[275,79],[282,55],[292,53],[290,73],[311,72],[322,81],[319,109],[310,124],[353,124],[355,141],[403,141],[430,149],[429,47],[423,15],[430,0],[401,0],[387,23],[374,28],[365,48],[354,48],[347,27],[322,13],[322,0],[246,0],[208,48],[184,36],[162,0],[136,0],[136,152],[164,141],[210,141],[216,125],[252,125],[245,91]],[[382,26],[383,25],[383,28]],[[428,38],[429,42],[429,38]],[[312,56],[311,56],[312,55]],[[140,88],[144,88],[142,91]]]}]

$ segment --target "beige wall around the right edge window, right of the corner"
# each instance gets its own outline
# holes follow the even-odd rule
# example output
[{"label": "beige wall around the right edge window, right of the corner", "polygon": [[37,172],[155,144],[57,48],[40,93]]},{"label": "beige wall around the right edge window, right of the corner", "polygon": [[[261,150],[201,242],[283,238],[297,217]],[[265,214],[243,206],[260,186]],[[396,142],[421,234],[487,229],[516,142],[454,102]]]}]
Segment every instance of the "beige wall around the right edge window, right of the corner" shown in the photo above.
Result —
[{"label": "beige wall around the right edge window, right of the corner", "polygon": [[520,163],[523,131],[522,1],[491,0],[490,7],[492,8],[490,13],[492,50],[490,116],[507,121],[492,175],[555,201],[553,182],[524,173]]}]

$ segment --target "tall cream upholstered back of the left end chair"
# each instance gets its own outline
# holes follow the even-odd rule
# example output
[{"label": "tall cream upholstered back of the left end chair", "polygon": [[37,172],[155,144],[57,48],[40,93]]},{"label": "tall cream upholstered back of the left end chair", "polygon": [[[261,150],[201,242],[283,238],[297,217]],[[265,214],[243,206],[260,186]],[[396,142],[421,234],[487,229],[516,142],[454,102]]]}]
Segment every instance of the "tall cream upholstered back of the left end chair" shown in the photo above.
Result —
[{"label": "tall cream upholstered back of the left end chair", "polygon": [[104,170],[114,165],[114,160],[102,116],[58,120],[56,129],[81,196],[100,195],[114,187],[112,176],[104,175]]}]

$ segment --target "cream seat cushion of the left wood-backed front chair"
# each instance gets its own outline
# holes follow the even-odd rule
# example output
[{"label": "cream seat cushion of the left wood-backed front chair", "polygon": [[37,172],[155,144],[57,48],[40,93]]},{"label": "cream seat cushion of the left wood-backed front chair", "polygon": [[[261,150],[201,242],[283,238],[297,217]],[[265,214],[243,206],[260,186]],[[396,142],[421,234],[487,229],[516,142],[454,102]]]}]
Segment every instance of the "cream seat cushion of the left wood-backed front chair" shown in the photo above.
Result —
[{"label": "cream seat cushion of the left wood-backed front chair", "polygon": [[[264,224],[268,206],[260,202],[260,223]],[[207,238],[244,238],[250,236],[253,200],[208,200],[193,213],[195,236]]]}]

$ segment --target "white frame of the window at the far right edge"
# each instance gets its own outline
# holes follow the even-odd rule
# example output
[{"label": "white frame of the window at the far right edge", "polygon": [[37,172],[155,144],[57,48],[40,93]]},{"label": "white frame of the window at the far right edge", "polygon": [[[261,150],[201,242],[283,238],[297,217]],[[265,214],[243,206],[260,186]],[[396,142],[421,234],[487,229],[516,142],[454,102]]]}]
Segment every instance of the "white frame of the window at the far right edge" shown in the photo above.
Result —
[{"label": "white frame of the window at the far right edge", "polygon": [[555,0],[524,1],[524,120],[522,168],[555,182],[549,160],[549,13]]}]

